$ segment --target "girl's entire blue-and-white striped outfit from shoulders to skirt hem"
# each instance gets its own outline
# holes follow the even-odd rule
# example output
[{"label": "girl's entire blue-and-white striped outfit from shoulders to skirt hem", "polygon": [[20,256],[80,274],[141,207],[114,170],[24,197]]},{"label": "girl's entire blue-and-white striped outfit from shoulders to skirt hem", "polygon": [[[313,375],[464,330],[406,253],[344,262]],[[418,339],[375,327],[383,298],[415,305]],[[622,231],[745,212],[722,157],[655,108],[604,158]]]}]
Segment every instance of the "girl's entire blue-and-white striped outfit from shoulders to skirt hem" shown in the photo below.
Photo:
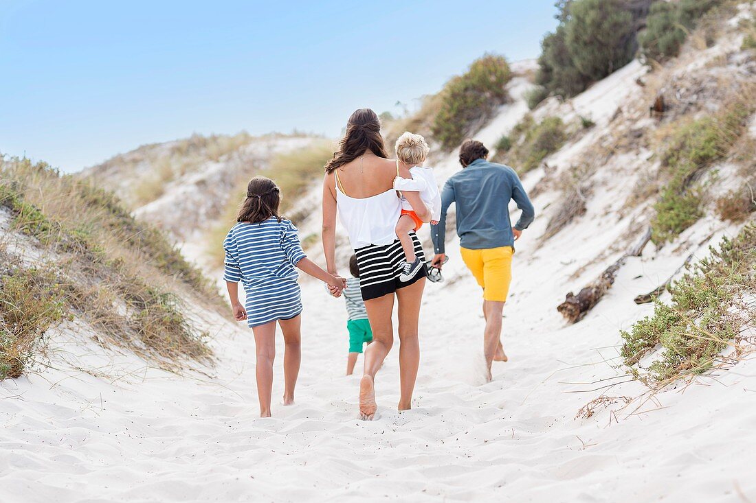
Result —
[{"label": "girl's entire blue-and-white striped outfit from shoulders to skirt hem", "polygon": [[296,263],[305,258],[291,221],[271,217],[258,224],[240,222],[223,241],[223,279],[242,282],[250,327],[302,313]]}]

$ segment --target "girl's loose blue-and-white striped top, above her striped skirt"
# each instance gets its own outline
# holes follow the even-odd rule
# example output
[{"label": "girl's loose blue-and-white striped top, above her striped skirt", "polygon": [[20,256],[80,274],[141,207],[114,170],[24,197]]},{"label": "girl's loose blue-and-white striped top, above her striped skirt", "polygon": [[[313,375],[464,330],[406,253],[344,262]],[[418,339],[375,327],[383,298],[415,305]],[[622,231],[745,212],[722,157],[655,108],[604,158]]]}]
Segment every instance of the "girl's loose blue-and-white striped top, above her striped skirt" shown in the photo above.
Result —
[{"label": "girl's loose blue-and-white striped top, above her striped skirt", "polygon": [[275,217],[258,224],[239,222],[228,231],[223,248],[223,279],[241,281],[245,289],[277,278],[296,281],[299,273],[294,266],[306,256],[294,224]]}]

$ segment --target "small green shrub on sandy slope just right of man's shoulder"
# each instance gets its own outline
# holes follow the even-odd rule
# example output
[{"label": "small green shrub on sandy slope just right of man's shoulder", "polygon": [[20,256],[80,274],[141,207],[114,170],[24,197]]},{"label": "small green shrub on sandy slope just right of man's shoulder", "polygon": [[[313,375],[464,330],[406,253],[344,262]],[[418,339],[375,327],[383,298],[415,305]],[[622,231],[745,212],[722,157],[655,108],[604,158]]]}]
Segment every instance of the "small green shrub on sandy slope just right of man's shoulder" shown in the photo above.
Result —
[{"label": "small green shrub on sandy slope just right of man's shoulder", "polygon": [[505,160],[520,174],[538,168],[541,161],[564,145],[567,135],[562,119],[546,117],[535,124],[532,116],[525,116],[510,135],[512,148]]}]

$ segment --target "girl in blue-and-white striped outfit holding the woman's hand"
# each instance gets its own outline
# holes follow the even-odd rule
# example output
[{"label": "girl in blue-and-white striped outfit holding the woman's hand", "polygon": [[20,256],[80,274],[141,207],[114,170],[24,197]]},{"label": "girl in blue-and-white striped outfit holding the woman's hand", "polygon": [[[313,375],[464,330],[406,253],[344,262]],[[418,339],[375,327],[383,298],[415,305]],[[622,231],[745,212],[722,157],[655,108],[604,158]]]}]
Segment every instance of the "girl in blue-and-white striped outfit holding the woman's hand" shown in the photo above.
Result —
[{"label": "girl in blue-and-white striped outfit holding the woman's hand", "polygon": [[[257,395],[260,417],[271,415],[273,360],[276,323],[283,332],[283,405],[294,403],[294,387],[301,360],[302,298],[296,269],[327,282],[338,297],[345,279],[329,274],[306,258],[299,234],[291,221],[278,215],[280,191],[272,180],[254,177],[246,189],[246,199],[237,224],[223,242],[225,273],[231,309],[237,321],[246,319],[255,336],[257,353]],[[295,269],[296,267],[296,269]],[[244,285],[246,302],[239,301],[239,282]]]}]

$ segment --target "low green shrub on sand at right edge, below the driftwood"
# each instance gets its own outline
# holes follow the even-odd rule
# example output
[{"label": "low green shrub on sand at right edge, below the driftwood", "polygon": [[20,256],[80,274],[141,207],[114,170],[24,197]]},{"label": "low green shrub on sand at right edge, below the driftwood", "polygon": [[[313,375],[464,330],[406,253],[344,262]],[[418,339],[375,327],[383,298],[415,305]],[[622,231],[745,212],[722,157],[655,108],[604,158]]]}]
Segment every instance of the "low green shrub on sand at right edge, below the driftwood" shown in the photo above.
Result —
[{"label": "low green shrub on sand at right edge, below the driftwood", "polygon": [[[724,238],[708,258],[689,268],[671,287],[672,304],[658,303],[654,313],[621,332],[621,356],[631,373],[647,384],[666,383],[707,371],[743,325],[754,323],[752,304],[733,304],[756,292],[756,226],[747,225],[735,239]],[[641,374],[635,369],[649,351],[662,352]]]}]

